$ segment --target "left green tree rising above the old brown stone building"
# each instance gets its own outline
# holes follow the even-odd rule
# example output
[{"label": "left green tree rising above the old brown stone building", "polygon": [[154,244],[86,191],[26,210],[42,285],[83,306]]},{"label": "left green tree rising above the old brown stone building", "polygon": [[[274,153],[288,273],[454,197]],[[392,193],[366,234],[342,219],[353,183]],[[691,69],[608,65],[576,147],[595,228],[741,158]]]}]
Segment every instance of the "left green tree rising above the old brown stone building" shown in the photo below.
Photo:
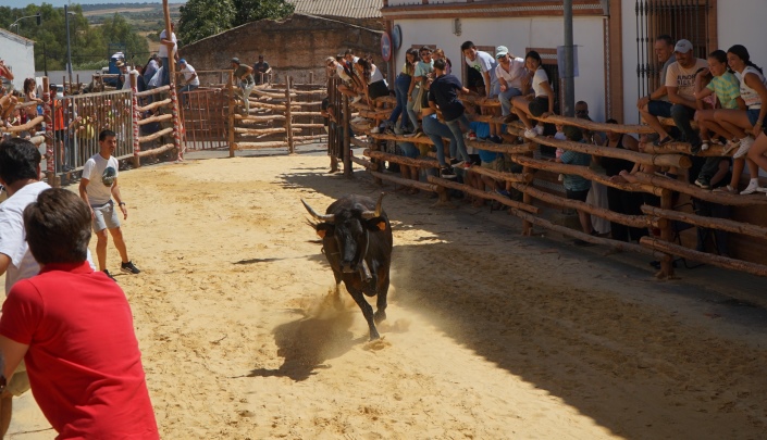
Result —
[{"label": "left green tree rising above the old brown stone building", "polygon": [[188,0],[181,7],[178,38],[183,43],[198,41],[232,28],[233,21],[232,0]]}]

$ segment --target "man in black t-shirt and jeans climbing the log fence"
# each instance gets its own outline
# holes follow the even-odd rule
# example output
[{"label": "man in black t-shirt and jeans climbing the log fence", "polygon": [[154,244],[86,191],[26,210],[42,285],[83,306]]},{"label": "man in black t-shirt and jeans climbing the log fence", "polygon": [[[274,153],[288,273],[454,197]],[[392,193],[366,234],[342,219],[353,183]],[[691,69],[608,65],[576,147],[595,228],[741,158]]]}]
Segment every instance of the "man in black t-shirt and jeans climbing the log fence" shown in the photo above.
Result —
[{"label": "man in black t-shirt and jeans climbing the log fence", "polygon": [[469,120],[466,117],[466,108],[458,99],[458,92],[468,95],[469,89],[463,87],[455,76],[445,74],[444,60],[434,62],[434,73],[436,77],[430,88],[429,106],[434,110],[438,108],[445,118],[445,124],[456,139],[458,159],[461,162],[455,164],[454,167],[468,169],[471,167],[471,158],[466,150],[463,133],[468,133],[470,127]]}]

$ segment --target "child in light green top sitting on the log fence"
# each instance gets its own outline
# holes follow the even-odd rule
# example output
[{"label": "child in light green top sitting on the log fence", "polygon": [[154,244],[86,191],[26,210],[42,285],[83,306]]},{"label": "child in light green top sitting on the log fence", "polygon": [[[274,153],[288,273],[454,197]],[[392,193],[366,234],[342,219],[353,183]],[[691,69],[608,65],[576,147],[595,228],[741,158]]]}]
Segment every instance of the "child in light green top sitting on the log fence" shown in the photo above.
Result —
[{"label": "child in light green top sitting on the log fence", "polygon": [[[697,112],[695,122],[701,130],[701,150],[708,150],[713,142],[709,130],[727,140],[733,139],[735,134],[730,133],[716,121],[716,109],[745,111],[745,102],[741,98],[740,83],[727,66],[727,52],[715,50],[708,54],[708,68],[701,70],[695,76],[695,100]],[[718,139],[715,143],[720,143]],[[730,142],[725,153],[734,144]]]}]

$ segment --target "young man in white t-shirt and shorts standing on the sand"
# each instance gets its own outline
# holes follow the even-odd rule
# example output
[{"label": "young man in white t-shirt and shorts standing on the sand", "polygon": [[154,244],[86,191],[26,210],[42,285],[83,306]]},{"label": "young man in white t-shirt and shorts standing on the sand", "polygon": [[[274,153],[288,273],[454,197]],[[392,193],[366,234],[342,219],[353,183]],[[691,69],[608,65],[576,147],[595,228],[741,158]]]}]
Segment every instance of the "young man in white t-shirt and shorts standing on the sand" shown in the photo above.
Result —
[{"label": "young man in white t-shirt and shorts standing on the sand", "polygon": [[[120,218],[114,208],[122,211],[123,219],[127,218],[127,206],[123,201],[117,185],[117,159],[112,155],[117,147],[117,139],[114,131],[103,130],[99,134],[99,152],[94,154],[83,167],[83,178],[79,181],[79,196],[90,206],[92,215],[94,231],[96,232],[96,256],[99,262],[99,271],[114,279],[107,269],[107,242],[109,240],[107,231],[111,234],[114,247],[120,252],[122,264],[120,271],[127,274],[138,274],[141,271],[136,267],[127,256],[127,249],[120,229]],[[112,201],[114,198],[114,201]]]}]

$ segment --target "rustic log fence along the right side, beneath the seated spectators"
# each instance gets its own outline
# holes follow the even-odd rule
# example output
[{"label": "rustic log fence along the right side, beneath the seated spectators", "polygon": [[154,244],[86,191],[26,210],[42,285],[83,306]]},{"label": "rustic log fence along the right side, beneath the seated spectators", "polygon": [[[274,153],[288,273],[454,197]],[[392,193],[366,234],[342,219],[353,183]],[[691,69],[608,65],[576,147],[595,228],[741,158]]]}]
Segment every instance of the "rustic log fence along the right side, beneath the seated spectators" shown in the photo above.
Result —
[{"label": "rustic log fence along the right side, beneath the seated spectators", "polygon": [[[521,201],[515,201],[496,192],[485,192],[483,190],[472,188],[465,184],[443,179],[436,176],[437,173],[426,173],[426,181],[405,179],[399,175],[384,173],[383,163],[393,162],[400,165],[415,166],[420,169],[438,169],[437,162],[430,153],[428,158],[409,159],[401,155],[396,155],[382,151],[381,144],[383,141],[394,140],[397,142],[413,142],[417,144],[433,146],[433,142],[425,136],[422,137],[404,137],[392,134],[373,134],[370,128],[378,126],[381,121],[385,120],[391,113],[391,106],[394,100],[389,97],[382,98],[389,109],[371,110],[368,105],[355,104],[349,105],[348,99],[343,98],[344,109],[347,106],[354,108],[358,114],[372,121],[371,123],[357,124],[356,133],[363,133],[367,139],[355,139],[347,131],[344,133],[344,144],[352,144],[358,148],[364,148],[363,158],[351,158],[351,161],[345,162],[345,166],[351,166],[351,163],[362,165],[373,176],[378,183],[382,180],[392,181],[398,185],[418,188],[420,190],[433,191],[440,194],[440,203],[449,203],[447,189],[457,189],[467,194],[485,200],[493,200],[508,206],[508,212],[522,219],[523,234],[531,235],[533,226],[543,227],[549,230],[560,232],[565,236],[577,238],[590,243],[607,246],[618,251],[632,251],[646,255],[652,255],[660,260],[660,271],[657,276],[660,278],[671,277],[675,274],[675,261],[680,259],[689,259],[697,262],[703,262],[710,265],[716,265],[729,269],[740,271],[757,276],[767,276],[767,265],[760,262],[752,262],[738,260],[727,255],[717,255],[706,252],[696,251],[694,249],[681,244],[679,238],[679,226],[681,224],[721,230],[742,235],[750,240],[756,240],[762,246],[767,246],[767,227],[746,222],[739,222],[726,218],[714,218],[703,216],[692,212],[683,212],[675,209],[675,200],[679,194],[686,196],[691,199],[697,199],[705,202],[722,204],[728,206],[746,206],[749,209],[757,208],[764,210],[767,208],[767,198],[763,193],[753,196],[734,196],[725,192],[713,192],[710,190],[701,189],[686,181],[671,179],[656,174],[636,173],[635,183],[615,183],[606,175],[592,171],[589,166],[568,165],[561,163],[553,163],[547,160],[535,159],[536,151],[540,151],[540,146],[559,148],[566,151],[576,151],[591,154],[598,158],[618,158],[631,161],[633,163],[655,165],[655,166],[675,166],[680,169],[690,168],[691,150],[690,144],[684,142],[675,142],[664,147],[651,148],[647,152],[635,152],[630,150],[619,150],[616,148],[601,147],[586,144],[581,142],[572,142],[567,140],[557,140],[554,138],[539,136],[532,140],[522,137],[523,126],[520,123],[507,125],[507,133],[511,135],[516,142],[504,142],[500,144],[482,141],[466,140],[468,147],[473,147],[481,150],[494,151],[504,153],[512,162],[522,166],[521,173],[506,173],[486,169],[480,166],[472,166],[469,173],[479,173],[493,179],[510,183],[510,187],[522,193]],[[497,108],[499,102],[495,99],[472,98],[468,97],[465,102],[481,108]],[[349,120],[354,114],[349,111],[343,112],[344,126],[348,126]],[[479,114],[470,114],[470,121],[474,122],[493,122],[503,124],[500,117],[482,116]],[[564,125],[572,125],[579,128],[589,129],[602,133],[620,133],[620,134],[647,134],[652,133],[650,127],[645,125],[616,125],[601,124],[591,121],[550,116],[546,123],[556,123]],[[670,121],[665,121],[667,125],[672,124]],[[521,143],[520,143],[521,141]],[[445,144],[448,142],[446,141]],[[349,154],[345,151],[344,154]],[[446,155],[449,155],[446,153]],[[701,152],[702,156],[726,156],[721,147],[712,147],[705,152]],[[582,176],[589,180],[599,183],[602,185],[618,188],[624,191],[647,193],[659,197],[659,206],[642,205],[644,215],[626,215],[613,212],[608,209],[594,206],[580,201],[568,200],[559,193],[546,188],[544,183],[556,181],[557,174],[570,174]],[[345,169],[345,174],[350,173]],[[549,184],[550,186],[550,184]],[[544,218],[540,208],[555,206],[560,210],[580,210],[590,213],[593,216],[605,218],[609,222],[618,223],[629,227],[652,228],[659,230],[660,234],[642,237],[639,243],[624,242],[584,234],[580,230],[557,225],[549,219]],[[678,241],[678,242],[675,242]]]}]

